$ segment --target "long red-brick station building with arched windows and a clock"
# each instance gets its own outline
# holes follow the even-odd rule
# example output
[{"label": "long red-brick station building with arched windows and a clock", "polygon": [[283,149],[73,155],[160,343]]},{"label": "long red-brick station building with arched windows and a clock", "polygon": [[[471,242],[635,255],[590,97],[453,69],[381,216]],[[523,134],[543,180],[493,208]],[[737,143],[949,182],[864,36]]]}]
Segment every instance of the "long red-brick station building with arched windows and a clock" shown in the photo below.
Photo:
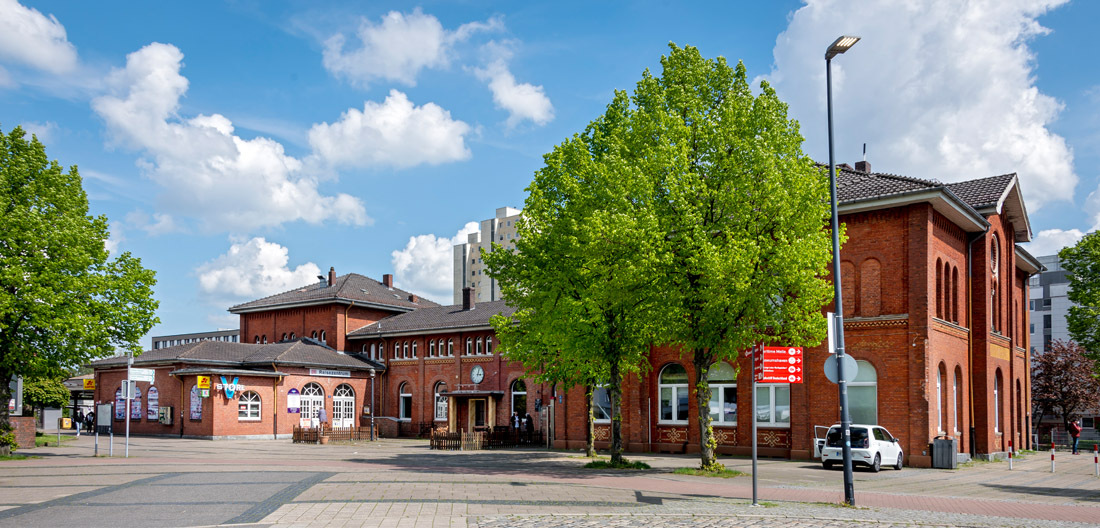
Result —
[{"label": "long red-brick station building with arched windows and a clock", "polygon": [[[886,427],[901,439],[905,463],[915,466],[931,465],[931,443],[936,438],[954,438],[960,453],[977,457],[1001,455],[1010,444],[1031,448],[1027,282],[1042,265],[1016,245],[1031,240],[1016,175],[943,184],[873,173],[861,162],[839,166],[837,183],[840,221],[848,237],[840,251],[846,351],[859,364],[859,374],[849,384],[853,421]],[[227,354],[241,362],[218,367],[227,374],[249,370],[250,374],[239,374],[241,384],[248,380],[266,387],[254,392],[275,404],[270,421],[252,427],[230,413],[212,424],[189,421],[179,431],[251,436],[262,433],[256,428],[266,428],[279,435],[288,430],[284,427],[306,419],[284,408],[279,398],[289,388],[301,392],[307,384],[320,385],[321,405],[332,417],[341,383],[355,395],[353,408],[365,405],[373,370],[374,416],[384,428],[396,425],[384,432],[479,430],[507,426],[508,417],[520,413],[531,414],[556,447],[583,447],[582,389],[535,383],[525,376],[522,365],[501,356],[490,319],[510,314],[505,300],[479,301],[473,289],[466,289],[462,300],[439,306],[394,288],[391,275],[376,282],[356,274],[338,277],[330,270],[328,279],[318,285],[235,306],[230,311],[241,317],[242,343],[195,346],[210,348],[202,355],[207,360]],[[287,344],[301,337],[309,340]],[[258,352],[230,351],[234,345]],[[276,348],[264,351],[265,346]],[[241,359],[275,359],[283,346],[324,352],[302,352],[309,360],[294,365],[273,361],[263,374],[256,373],[258,363]],[[182,350],[155,352],[170,355]],[[135,364],[156,358],[146,354]],[[827,355],[824,343],[805,350],[803,384],[758,385],[759,405],[749,415],[745,405],[738,405],[751,400],[749,359],[712,367],[710,411],[718,451],[747,453],[748,419],[755,415],[763,455],[811,458],[815,426],[839,419],[837,386],[823,370]],[[177,354],[161,360],[170,365],[165,364],[168,377],[165,388],[158,389],[162,402],[170,393],[167,398],[180,402],[175,405],[182,409],[190,376],[198,374],[194,369],[213,374],[212,364],[200,366],[184,359]],[[116,369],[97,385],[102,387],[97,398],[114,394],[121,381],[118,366],[97,363],[97,376]],[[690,360],[676,349],[654,345],[648,366],[624,382],[622,430],[627,450],[697,451],[696,402],[690,394],[696,375]],[[344,370],[349,375],[332,380],[314,369]],[[157,376],[160,382],[160,370]],[[595,436],[603,448],[610,439],[607,399],[606,389],[596,391]],[[215,400],[211,414],[218,413],[216,405],[239,410],[239,404]],[[353,414],[353,421],[366,418],[364,413]],[[262,420],[267,420],[264,416]],[[221,419],[238,422],[219,426]]]}]

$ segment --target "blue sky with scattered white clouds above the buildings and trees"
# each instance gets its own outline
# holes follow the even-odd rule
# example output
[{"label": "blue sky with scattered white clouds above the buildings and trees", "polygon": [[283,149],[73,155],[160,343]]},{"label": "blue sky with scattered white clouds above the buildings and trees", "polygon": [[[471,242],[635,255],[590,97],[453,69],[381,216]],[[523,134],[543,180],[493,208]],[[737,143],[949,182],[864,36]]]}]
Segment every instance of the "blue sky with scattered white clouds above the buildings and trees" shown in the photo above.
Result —
[{"label": "blue sky with scattered white clouds above the buildings and trees", "polygon": [[[157,274],[152,334],[359,273],[451,301],[452,245],[521,208],[542,155],[669,44],[745,63],[827,161],[1020,176],[1035,255],[1100,224],[1100,2],[0,0],[0,131],[77,166],[112,254]],[[1093,58],[1089,58],[1093,57]],[[147,340],[146,340],[147,341]],[[147,345],[147,343],[146,343]]]}]

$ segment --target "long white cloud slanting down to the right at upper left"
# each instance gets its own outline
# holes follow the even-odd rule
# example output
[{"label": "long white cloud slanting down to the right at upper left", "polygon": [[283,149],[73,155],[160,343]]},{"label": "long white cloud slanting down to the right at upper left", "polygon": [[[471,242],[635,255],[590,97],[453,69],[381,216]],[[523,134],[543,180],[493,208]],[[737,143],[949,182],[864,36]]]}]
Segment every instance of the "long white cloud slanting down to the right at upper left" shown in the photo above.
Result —
[{"label": "long white cloud slanting down to the right at upper left", "polygon": [[92,101],[118,144],[143,151],[140,165],[165,193],[162,206],[198,220],[210,231],[241,232],[283,222],[370,222],[352,196],[322,196],[299,160],[267,138],[243,140],[221,114],[184,119],[179,99],[188,80],[184,56],[153,43],[127,56],[116,69],[110,95]]}]

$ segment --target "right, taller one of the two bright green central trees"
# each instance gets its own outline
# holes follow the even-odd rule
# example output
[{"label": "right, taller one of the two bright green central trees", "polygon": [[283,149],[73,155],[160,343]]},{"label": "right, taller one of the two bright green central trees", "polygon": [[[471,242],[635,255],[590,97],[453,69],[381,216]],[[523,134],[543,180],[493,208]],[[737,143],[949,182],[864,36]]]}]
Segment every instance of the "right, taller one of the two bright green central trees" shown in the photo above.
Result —
[{"label": "right, taller one of the two bright green central trees", "polygon": [[[670,45],[635,92],[630,129],[664,233],[658,288],[666,341],[692,359],[702,469],[721,469],[708,371],[756,343],[817,344],[832,293],[828,178],[802,152],[796,121],[745,66]],[[750,416],[751,419],[751,416]]]}]

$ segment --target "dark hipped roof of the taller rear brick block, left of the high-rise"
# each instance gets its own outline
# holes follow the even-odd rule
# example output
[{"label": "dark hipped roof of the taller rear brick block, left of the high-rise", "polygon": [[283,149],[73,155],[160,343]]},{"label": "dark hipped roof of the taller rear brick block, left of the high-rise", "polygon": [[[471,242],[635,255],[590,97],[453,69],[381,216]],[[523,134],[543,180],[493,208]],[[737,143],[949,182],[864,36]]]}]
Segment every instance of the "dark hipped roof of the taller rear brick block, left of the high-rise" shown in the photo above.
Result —
[{"label": "dark hipped roof of the taller rear brick block, left of the high-rise", "polygon": [[[315,283],[309,286],[295,288],[282,294],[275,294],[262,299],[251,300],[237,305],[229,309],[231,314],[245,311],[256,311],[260,309],[271,309],[280,306],[315,305],[321,302],[341,302],[358,305],[372,305],[378,307],[393,308],[395,311],[415,310],[429,306],[439,306],[422,297],[417,298],[414,294],[398,288],[387,288],[382,283],[373,278],[364,277],[356,273],[341,275],[327,285],[327,280]],[[416,298],[416,301],[411,299]]]}]

